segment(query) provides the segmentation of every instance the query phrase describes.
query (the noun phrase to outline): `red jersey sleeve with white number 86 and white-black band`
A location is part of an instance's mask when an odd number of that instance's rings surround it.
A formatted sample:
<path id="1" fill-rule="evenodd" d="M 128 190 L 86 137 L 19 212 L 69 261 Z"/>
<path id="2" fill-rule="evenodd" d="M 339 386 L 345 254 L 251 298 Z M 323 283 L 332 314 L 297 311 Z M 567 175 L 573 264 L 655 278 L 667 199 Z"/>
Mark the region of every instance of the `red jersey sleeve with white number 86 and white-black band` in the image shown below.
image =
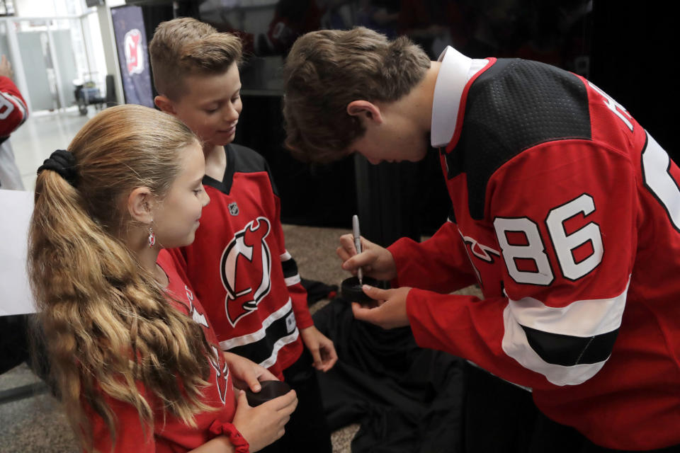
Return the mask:
<path id="1" fill-rule="evenodd" d="M 587 140 L 541 144 L 502 166 L 489 180 L 485 222 L 502 254 L 495 269 L 504 295 L 413 289 L 407 311 L 419 345 L 536 389 L 593 377 L 623 316 L 635 184 L 628 155 Z"/>

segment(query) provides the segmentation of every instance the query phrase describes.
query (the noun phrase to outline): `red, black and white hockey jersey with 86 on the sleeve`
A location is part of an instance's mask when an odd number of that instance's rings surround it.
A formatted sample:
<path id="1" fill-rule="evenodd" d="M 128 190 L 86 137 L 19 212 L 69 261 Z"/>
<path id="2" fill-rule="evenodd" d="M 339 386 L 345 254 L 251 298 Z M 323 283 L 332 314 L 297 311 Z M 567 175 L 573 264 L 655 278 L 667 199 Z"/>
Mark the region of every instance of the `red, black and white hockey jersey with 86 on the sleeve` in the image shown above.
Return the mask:
<path id="1" fill-rule="evenodd" d="M 419 345 L 530 386 L 596 444 L 680 444 L 680 170 L 606 93 L 489 59 L 441 152 L 453 202 L 390 247 Z M 446 294 L 479 282 L 485 299 Z"/>

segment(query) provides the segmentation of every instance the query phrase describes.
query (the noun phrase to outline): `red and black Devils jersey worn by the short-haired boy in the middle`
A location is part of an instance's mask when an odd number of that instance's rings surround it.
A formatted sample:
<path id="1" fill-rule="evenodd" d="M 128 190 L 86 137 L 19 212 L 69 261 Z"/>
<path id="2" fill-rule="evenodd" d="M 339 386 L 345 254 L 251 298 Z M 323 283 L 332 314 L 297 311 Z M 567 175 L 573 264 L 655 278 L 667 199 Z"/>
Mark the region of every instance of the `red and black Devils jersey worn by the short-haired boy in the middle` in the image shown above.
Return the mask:
<path id="1" fill-rule="evenodd" d="M 312 326 L 307 292 L 285 250 L 280 202 L 266 161 L 225 147 L 222 181 L 203 180 L 210 204 L 191 246 L 172 251 L 215 326 L 223 350 L 247 357 L 279 379 L 302 353 L 298 328 Z"/>

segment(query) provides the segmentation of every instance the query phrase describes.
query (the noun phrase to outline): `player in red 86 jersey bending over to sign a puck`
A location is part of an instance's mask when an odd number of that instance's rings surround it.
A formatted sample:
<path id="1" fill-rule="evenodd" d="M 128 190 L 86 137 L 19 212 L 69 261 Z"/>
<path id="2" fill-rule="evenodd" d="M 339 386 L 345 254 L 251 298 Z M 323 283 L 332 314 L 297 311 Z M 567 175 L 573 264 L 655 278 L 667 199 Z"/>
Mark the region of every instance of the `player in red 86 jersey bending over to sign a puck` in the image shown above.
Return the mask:
<path id="1" fill-rule="evenodd" d="M 431 239 L 356 255 L 341 238 L 345 269 L 392 280 L 357 319 L 531 387 L 580 432 L 572 451 L 677 451 L 680 171 L 625 108 L 547 64 L 451 47 L 431 62 L 356 28 L 295 42 L 284 109 L 302 159 L 440 149 L 453 210 Z M 484 299 L 450 294 L 474 282 Z"/>

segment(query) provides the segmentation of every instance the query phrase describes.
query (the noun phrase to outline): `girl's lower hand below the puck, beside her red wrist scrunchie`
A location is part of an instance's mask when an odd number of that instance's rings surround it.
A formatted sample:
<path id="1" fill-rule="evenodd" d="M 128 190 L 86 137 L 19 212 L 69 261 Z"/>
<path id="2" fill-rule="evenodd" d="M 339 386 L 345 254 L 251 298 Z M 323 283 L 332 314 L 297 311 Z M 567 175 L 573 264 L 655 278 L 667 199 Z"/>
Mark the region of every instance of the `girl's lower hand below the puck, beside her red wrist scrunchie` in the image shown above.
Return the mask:
<path id="1" fill-rule="evenodd" d="M 285 424 L 297 407 L 295 390 L 266 403 L 251 408 L 246 392 L 239 390 L 236 414 L 232 422 L 250 445 L 251 452 L 257 452 L 280 439 L 285 432 Z"/>

